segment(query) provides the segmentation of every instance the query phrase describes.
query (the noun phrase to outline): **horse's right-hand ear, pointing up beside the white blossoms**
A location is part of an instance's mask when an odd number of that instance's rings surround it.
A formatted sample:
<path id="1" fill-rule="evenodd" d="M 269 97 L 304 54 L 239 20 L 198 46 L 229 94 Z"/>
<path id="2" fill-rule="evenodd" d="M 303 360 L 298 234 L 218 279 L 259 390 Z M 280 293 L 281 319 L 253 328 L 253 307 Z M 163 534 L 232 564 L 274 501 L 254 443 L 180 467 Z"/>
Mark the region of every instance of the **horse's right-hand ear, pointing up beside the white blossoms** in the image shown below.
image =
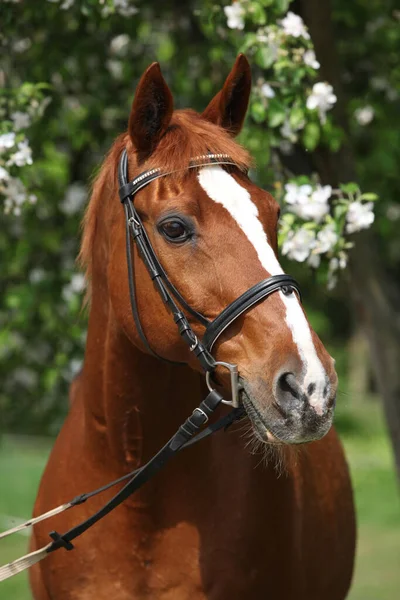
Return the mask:
<path id="1" fill-rule="evenodd" d="M 202 117 L 237 135 L 246 116 L 250 90 L 249 61 L 244 54 L 239 54 L 222 90 L 211 100 Z"/>

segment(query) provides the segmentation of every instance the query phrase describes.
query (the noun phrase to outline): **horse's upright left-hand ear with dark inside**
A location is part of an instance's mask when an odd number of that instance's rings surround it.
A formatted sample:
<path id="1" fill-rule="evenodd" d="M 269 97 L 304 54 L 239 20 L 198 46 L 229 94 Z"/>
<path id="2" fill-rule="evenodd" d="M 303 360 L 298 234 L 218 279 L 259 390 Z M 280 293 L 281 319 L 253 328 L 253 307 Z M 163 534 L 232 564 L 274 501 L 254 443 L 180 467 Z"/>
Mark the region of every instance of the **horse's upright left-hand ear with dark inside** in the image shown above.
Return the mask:
<path id="1" fill-rule="evenodd" d="M 128 131 L 139 161 L 150 156 L 165 133 L 174 109 L 170 89 L 160 65 L 153 63 L 143 73 L 136 88 Z"/>

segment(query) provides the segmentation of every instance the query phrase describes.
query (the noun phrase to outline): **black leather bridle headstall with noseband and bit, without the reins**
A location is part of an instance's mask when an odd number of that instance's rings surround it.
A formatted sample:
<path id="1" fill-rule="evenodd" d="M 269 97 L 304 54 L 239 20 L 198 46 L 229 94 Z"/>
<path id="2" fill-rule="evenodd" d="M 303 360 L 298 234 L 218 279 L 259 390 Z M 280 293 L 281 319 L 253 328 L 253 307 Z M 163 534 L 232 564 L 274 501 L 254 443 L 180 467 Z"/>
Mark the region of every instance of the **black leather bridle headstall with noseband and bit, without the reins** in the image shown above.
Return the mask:
<path id="1" fill-rule="evenodd" d="M 196 169 L 210 165 L 230 165 L 238 168 L 238 165 L 227 154 L 205 154 L 198 156 L 190 162 L 188 169 Z M 229 370 L 231 377 L 232 400 L 223 400 L 225 404 L 235 407 L 239 405 L 239 379 L 238 367 L 231 363 L 216 361 L 211 355 L 211 350 L 220 337 L 220 335 L 242 314 L 252 308 L 255 304 L 261 302 L 276 291 L 281 291 L 285 295 L 290 295 L 296 290 L 301 298 L 300 288 L 296 280 L 290 275 L 272 275 L 259 283 L 256 283 L 241 296 L 229 304 L 220 314 L 210 321 L 204 315 L 194 310 L 183 298 L 179 290 L 173 285 L 160 263 L 153 246 L 149 240 L 147 232 L 139 217 L 134 205 L 135 195 L 144 187 L 149 185 L 155 179 L 166 177 L 171 173 L 166 173 L 160 168 L 144 171 L 132 181 L 129 181 L 128 175 L 128 155 L 123 151 L 118 164 L 119 196 L 125 210 L 126 223 L 126 256 L 128 263 L 129 294 L 131 301 L 132 314 L 136 329 L 146 350 L 156 358 L 166 360 L 159 356 L 150 346 L 140 321 L 137 307 L 135 277 L 134 277 L 134 259 L 131 251 L 130 239 L 137 246 L 147 271 L 154 285 L 160 294 L 162 300 L 171 311 L 174 321 L 178 327 L 179 333 L 189 346 L 191 352 L 199 360 L 204 372 L 206 373 L 207 385 L 212 391 L 211 375 L 217 366 Z M 186 310 L 194 319 L 205 327 L 205 332 L 201 340 L 194 333 L 188 318 L 181 310 L 180 306 Z M 170 361 L 168 361 L 170 362 Z"/>

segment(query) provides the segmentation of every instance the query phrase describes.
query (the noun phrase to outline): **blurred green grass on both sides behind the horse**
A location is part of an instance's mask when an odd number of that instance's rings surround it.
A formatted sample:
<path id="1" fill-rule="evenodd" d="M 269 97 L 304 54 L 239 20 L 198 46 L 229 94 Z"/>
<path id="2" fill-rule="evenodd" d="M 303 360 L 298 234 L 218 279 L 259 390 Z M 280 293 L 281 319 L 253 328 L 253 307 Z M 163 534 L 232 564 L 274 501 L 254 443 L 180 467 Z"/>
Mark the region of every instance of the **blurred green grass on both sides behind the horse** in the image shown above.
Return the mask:
<path id="1" fill-rule="evenodd" d="M 380 406 L 365 402 L 356 409 L 342 409 L 338 424 L 352 472 L 359 531 L 354 583 L 347 600 L 398 600 L 400 504 Z M 51 442 L 36 438 L 2 438 L 0 529 L 11 526 L 1 522 L 2 515 L 30 516 L 50 447 Z M 17 534 L 0 542 L 0 565 L 24 554 L 27 539 Z M 0 583 L 0 598 L 30 600 L 26 574 Z"/>

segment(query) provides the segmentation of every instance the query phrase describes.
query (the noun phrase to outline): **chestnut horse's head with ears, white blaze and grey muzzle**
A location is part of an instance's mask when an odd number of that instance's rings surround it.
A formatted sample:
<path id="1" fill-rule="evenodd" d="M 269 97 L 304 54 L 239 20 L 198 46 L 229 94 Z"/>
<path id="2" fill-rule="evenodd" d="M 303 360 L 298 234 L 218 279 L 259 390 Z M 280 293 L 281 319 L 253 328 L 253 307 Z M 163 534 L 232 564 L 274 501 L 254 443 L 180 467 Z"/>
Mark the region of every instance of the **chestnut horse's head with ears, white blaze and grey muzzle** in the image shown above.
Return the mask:
<path id="1" fill-rule="evenodd" d="M 113 311 L 144 351 L 131 315 L 124 216 L 116 194 L 115 168 L 123 148 L 130 178 L 156 167 L 171 173 L 139 191 L 134 203 L 170 280 L 193 309 L 212 320 L 254 284 L 282 273 L 278 204 L 247 177 L 248 155 L 233 139 L 245 118 L 250 86 L 250 67 L 241 55 L 201 115 L 174 112 L 160 68 L 151 65 L 138 85 L 128 133 L 108 159 L 112 167 L 100 177 L 98 185 L 113 186 L 107 231 Z M 237 167 L 188 169 L 191 159 L 207 153 L 229 155 Z M 164 358 L 199 369 L 138 256 L 135 281 L 150 346 Z M 204 327 L 188 318 L 201 339 Z M 241 399 L 259 438 L 299 443 L 318 439 L 330 428 L 337 387 L 334 362 L 294 292 L 276 291 L 246 311 L 222 333 L 213 354 L 238 365 Z M 217 371 L 217 378 L 229 389 L 225 372 Z"/>

